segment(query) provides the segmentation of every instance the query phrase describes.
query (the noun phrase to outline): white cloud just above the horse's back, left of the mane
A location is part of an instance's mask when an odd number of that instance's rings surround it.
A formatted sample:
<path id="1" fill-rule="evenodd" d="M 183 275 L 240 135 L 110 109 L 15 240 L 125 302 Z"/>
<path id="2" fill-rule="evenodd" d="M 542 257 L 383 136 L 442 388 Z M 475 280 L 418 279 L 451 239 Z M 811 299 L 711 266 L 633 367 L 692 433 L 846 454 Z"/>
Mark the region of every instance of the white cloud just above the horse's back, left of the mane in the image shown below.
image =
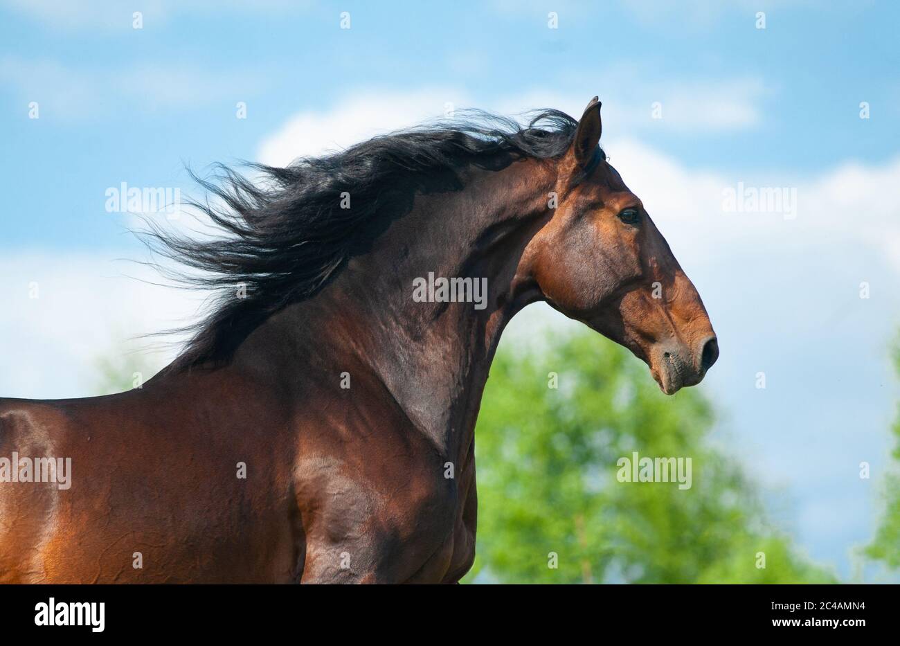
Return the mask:
<path id="1" fill-rule="evenodd" d="M 2 396 L 85 397 L 97 394 L 100 357 L 137 350 L 157 366 L 173 358 L 174 347 L 137 337 L 184 325 L 202 294 L 149 284 L 160 282 L 155 272 L 115 257 L 0 255 L 0 300 L 6 305 L 0 317 Z M 35 289 L 37 298 L 31 298 Z"/>

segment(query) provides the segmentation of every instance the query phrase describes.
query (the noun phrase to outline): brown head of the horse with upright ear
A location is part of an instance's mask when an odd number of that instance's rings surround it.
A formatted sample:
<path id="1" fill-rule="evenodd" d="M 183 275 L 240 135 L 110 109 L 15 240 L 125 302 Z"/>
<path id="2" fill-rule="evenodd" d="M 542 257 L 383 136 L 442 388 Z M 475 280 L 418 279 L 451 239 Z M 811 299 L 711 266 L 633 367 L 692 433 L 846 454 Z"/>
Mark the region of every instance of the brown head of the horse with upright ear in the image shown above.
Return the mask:
<path id="1" fill-rule="evenodd" d="M 671 395 L 716 363 L 716 334 L 643 202 L 607 163 L 600 132 L 595 97 L 558 162 L 556 208 L 527 248 L 528 271 L 554 309 L 625 345 Z"/>

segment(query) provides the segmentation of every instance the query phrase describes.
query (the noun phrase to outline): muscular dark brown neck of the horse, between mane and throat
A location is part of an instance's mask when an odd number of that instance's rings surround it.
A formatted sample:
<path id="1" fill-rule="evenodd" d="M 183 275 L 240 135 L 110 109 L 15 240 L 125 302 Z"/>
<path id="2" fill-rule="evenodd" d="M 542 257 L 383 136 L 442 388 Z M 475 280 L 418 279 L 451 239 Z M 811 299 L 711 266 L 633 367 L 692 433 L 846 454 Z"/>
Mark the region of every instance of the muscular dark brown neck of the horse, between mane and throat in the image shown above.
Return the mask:
<path id="1" fill-rule="evenodd" d="M 304 330 L 305 354 L 344 357 L 334 364 L 335 383 L 345 364 L 374 372 L 439 451 L 463 459 L 500 333 L 540 299 L 519 270 L 528 241 L 549 217 L 552 173 L 519 161 L 466 173 L 461 191 L 417 196 L 371 252 L 352 259 L 316 298 L 293 306 L 288 328 Z M 414 284 L 428 283 L 429 274 L 436 282 L 472 278 L 473 287 L 486 280 L 483 309 L 414 300 Z"/>

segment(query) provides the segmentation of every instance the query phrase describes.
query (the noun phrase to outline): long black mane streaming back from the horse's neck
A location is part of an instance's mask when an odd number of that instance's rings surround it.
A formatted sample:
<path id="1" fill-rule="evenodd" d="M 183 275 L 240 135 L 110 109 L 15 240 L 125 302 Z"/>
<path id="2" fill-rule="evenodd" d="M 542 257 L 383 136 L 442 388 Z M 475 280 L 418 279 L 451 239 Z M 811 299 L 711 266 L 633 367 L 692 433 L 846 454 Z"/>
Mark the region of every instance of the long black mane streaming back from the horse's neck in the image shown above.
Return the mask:
<path id="1" fill-rule="evenodd" d="M 556 110 L 537 112 L 527 126 L 485 112 L 467 116 L 449 127 L 403 130 L 285 168 L 248 164 L 261 181 L 221 165 L 211 179 L 192 172 L 222 206 L 190 203 L 222 235 L 196 240 L 153 223 L 141 234 L 151 250 L 201 271 L 174 274 L 179 281 L 216 294 L 210 313 L 186 328 L 193 336 L 173 367 L 227 361 L 265 319 L 319 292 L 349 257 L 371 245 L 375 220 L 409 211 L 412 196 L 428 190 L 436 176 L 459 184 L 457 171 L 465 166 L 558 157 L 578 126 Z M 341 208 L 342 193 L 351 208 Z M 242 284 L 246 298 L 237 298 Z"/>

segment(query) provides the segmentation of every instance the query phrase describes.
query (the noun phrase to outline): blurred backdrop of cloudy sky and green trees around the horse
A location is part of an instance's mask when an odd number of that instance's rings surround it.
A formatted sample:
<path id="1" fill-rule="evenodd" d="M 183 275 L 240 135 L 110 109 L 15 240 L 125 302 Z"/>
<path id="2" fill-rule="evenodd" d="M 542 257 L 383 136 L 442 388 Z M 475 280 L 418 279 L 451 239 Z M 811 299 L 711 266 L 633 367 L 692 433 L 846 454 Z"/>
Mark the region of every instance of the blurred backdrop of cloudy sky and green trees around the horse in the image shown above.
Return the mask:
<path id="1" fill-rule="evenodd" d="M 192 226 L 185 166 L 599 94 L 609 161 L 721 357 L 666 398 L 606 339 L 519 314 L 476 433 L 466 580 L 896 582 L 898 22 L 865 0 L 0 0 L 0 395 L 124 390 L 176 354 L 141 335 L 205 295 L 129 231 Z M 693 486 L 618 482 L 633 451 L 690 456 Z"/>

